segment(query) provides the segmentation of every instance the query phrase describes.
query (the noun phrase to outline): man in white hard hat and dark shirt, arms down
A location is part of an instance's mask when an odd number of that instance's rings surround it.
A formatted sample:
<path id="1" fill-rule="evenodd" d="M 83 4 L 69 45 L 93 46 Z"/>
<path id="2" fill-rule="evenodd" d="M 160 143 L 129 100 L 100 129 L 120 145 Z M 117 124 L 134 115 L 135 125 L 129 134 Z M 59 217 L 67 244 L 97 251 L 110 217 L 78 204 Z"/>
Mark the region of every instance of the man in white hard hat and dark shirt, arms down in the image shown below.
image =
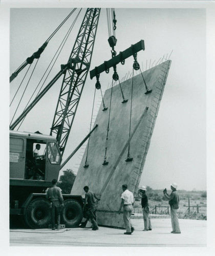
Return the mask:
<path id="1" fill-rule="evenodd" d="M 148 206 L 148 197 L 145 193 L 146 191 L 145 186 L 141 186 L 139 189 L 139 194 L 141 196 L 141 205 L 143 210 L 143 221 L 144 221 L 144 229 L 143 231 L 152 230 L 151 220 L 149 216 L 149 206 Z"/>

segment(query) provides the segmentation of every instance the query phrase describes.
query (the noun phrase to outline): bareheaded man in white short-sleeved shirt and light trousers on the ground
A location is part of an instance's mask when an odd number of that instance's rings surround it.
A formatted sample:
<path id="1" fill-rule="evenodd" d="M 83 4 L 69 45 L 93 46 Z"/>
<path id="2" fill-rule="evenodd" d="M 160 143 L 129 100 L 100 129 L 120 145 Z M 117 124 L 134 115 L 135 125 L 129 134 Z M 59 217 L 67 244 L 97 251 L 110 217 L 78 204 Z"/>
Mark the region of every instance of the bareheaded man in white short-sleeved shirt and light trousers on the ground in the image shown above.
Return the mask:
<path id="1" fill-rule="evenodd" d="M 124 232 L 124 234 L 132 234 L 132 232 L 134 231 L 134 227 L 131 224 L 130 217 L 133 211 L 134 195 L 131 191 L 127 189 L 126 184 L 122 185 L 122 190 L 123 190 L 123 193 L 121 195 L 122 201 L 119 207 L 119 214 L 123 206 L 123 220 L 126 227 L 126 232 Z"/>

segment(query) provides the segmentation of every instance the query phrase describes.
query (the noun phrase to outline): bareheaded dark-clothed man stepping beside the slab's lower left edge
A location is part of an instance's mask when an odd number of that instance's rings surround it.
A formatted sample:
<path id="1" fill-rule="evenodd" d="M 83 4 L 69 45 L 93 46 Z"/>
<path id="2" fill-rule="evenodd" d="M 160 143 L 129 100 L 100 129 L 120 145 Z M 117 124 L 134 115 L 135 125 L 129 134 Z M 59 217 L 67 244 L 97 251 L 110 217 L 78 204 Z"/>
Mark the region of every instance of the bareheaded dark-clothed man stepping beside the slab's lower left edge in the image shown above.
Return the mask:
<path id="1" fill-rule="evenodd" d="M 89 190 L 88 186 L 84 186 L 83 190 L 85 191 L 85 202 L 83 205 L 83 210 L 88 204 L 88 211 L 90 213 L 90 219 L 93 224 L 92 230 L 98 230 L 98 224 L 97 224 L 97 218 L 96 218 L 96 210 L 97 210 L 97 205 L 96 205 L 96 200 L 95 198 L 99 201 L 100 199 L 96 197 L 95 193 L 93 191 Z"/>

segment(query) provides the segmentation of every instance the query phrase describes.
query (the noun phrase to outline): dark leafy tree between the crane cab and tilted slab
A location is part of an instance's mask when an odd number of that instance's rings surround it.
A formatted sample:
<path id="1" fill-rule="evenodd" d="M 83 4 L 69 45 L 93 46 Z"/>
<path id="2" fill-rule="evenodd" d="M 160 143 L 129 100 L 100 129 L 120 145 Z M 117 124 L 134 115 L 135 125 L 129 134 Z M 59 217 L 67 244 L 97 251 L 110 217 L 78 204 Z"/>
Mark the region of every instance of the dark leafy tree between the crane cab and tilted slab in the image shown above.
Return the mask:
<path id="1" fill-rule="evenodd" d="M 70 194 L 72 186 L 74 184 L 76 175 L 73 173 L 72 169 L 63 170 L 63 175 L 57 183 L 57 186 L 62 189 L 62 194 Z"/>

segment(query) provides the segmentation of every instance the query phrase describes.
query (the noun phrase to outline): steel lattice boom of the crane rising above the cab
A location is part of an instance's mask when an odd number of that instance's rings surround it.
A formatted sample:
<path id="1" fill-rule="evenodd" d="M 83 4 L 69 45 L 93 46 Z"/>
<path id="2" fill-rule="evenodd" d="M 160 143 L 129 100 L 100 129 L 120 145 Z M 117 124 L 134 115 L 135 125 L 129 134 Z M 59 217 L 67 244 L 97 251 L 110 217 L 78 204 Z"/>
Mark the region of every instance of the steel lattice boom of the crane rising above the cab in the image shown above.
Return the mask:
<path id="1" fill-rule="evenodd" d="M 50 132 L 50 135 L 56 135 L 61 155 L 90 69 L 99 15 L 100 8 L 87 9 L 69 57 L 70 69 L 66 70 L 63 77 Z"/>

